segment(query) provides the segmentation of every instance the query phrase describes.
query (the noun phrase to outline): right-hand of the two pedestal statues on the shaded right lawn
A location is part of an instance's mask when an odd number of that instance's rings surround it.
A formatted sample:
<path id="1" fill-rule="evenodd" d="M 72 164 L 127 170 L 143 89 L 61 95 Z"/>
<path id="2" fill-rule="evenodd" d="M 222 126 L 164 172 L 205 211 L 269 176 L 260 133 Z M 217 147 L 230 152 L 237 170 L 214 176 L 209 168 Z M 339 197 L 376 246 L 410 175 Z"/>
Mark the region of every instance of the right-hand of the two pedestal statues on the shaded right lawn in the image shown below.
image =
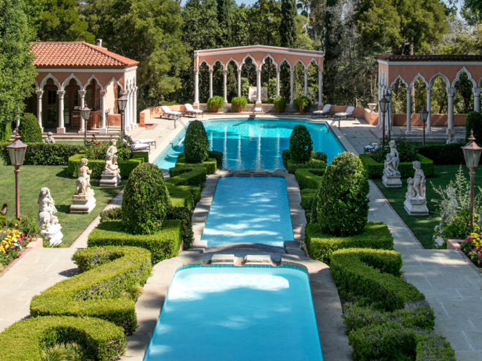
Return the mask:
<path id="1" fill-rule="evenodd" d="M 426 179 L 419 161 L 412 162 L 415 175 L 407 179 L 404 207 L 409 215 L 428 215 Z"/>

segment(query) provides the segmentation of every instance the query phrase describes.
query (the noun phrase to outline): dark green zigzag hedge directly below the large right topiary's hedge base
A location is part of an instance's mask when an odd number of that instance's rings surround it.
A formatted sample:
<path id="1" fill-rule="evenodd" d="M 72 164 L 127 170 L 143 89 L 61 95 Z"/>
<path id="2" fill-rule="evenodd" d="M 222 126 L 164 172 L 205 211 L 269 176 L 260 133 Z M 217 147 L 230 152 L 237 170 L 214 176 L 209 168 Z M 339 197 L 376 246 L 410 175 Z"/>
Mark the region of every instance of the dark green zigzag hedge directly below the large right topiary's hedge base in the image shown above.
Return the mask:
<path id="1" fill-rule="evenodd" d="M 330 268 L 337 287 L 394 311 L 425 299 L 417 287 L 400 278 L 403 264 L 395 251 L 347 248 L 333 252 Z"/>

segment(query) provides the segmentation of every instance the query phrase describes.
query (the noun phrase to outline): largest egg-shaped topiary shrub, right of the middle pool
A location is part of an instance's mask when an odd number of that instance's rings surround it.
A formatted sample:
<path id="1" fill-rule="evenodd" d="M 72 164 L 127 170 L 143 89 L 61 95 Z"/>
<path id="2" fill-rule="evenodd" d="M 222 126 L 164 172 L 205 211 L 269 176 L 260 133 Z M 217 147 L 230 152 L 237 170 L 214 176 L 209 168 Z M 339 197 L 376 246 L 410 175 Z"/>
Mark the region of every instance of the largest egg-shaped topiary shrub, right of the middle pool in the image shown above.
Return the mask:
<path id="1" fill-rule="evenodd" d="M 326 168 L 317 193 L 317 222 L 326 234 L 361 234 L 368 219 L 368 178 L 362 161 L 341 153 Z"/>

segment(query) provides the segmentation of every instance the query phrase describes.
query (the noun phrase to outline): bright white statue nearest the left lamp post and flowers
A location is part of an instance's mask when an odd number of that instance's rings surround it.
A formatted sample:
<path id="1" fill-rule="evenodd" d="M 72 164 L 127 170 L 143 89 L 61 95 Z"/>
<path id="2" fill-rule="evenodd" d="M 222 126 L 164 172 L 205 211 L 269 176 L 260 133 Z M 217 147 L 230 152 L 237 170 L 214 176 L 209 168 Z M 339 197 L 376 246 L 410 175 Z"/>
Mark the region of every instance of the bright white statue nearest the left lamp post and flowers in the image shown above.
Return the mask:
<path id="1" fill-rule="evenodd" d="M 57 209 L 49 188 L 41 188 L 37 203 L 39 204 L 39 225 L 42 237 L 48 239 L 50 245 L 58 245 L 63 238 L 62 227 L 55 216 Z"/>

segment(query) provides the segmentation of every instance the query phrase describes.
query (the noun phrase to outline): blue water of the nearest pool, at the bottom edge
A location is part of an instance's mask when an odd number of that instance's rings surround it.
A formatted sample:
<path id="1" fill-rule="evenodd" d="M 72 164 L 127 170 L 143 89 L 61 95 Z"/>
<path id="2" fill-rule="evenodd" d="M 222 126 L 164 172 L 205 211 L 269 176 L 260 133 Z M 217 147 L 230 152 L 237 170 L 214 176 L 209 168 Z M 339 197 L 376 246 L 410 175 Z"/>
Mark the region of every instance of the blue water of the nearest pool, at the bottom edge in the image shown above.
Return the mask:
<path id="1" fill-rule="evenodd" d="M 174 275 L 144 361 L 322 361 L 306 272 L 188 266 Z"/>

